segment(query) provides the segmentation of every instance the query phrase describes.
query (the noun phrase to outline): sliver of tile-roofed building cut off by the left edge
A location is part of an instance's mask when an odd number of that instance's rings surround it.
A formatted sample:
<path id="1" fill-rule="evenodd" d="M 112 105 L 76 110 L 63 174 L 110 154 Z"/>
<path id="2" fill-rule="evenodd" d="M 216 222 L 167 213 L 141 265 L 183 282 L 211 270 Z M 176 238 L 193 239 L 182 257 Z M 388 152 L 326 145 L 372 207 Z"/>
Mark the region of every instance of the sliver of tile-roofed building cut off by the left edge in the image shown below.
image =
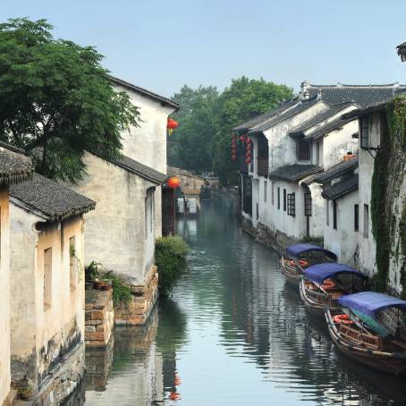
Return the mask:
<path id="1" fill-rule="evenodd" d="M 10 312 L 12 309 L 10 300 L 14 292 L 11 289 L 10 274 L 9 187 L 16 182 L 30 179 L 32 172 L 30 158 L 22 156 L 18 153 L 18 149 L 5 149 L 4 143 L 0 142 L 0 275 L 3 286 L 0 305 L 0 404 L 5 405 L 10 404 L 13 398 L 10 368 Z"/>

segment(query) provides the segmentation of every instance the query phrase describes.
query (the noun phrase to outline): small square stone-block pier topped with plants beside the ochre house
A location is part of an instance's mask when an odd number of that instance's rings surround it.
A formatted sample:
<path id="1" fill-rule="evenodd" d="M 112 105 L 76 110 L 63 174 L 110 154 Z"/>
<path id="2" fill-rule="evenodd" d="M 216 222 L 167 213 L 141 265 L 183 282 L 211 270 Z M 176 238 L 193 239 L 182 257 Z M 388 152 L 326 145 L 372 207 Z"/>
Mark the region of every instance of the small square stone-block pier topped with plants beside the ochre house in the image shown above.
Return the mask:
<path id="1" fill-rule="evenodd" d="M 113 291 L 86 290 L 85 343 L 106 347 L 114 329 Z"/>

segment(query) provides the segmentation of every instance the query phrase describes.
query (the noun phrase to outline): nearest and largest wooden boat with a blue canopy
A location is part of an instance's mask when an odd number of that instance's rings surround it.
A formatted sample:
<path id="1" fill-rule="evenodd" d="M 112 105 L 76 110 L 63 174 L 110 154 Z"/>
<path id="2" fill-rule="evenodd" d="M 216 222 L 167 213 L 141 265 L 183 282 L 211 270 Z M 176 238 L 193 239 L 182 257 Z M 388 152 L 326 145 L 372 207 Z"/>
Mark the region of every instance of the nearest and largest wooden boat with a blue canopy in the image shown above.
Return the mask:
<path id="1" fill-rule="evenodd" d="M 386 373 L 406 372 L 406 300 L 359 292 L 338 300 L 343 309 L 326 308 L 328 331 L 343 354 Z M 403 311 L 402 311 L 403 310 Z"/>

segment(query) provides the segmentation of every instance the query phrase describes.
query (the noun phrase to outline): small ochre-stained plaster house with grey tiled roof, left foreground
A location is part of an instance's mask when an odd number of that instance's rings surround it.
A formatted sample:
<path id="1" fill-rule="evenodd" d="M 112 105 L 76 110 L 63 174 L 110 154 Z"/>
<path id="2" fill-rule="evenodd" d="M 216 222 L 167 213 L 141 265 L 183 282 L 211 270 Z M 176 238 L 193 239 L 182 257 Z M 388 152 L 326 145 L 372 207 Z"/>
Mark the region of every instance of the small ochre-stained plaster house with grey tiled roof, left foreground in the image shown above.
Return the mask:
<path id="1" fill-rule="evenodd" d="M 84 375 L 84 222 L 95 202 L 39 174 L 10 187 L 11 373 L 35 404 Z"/>

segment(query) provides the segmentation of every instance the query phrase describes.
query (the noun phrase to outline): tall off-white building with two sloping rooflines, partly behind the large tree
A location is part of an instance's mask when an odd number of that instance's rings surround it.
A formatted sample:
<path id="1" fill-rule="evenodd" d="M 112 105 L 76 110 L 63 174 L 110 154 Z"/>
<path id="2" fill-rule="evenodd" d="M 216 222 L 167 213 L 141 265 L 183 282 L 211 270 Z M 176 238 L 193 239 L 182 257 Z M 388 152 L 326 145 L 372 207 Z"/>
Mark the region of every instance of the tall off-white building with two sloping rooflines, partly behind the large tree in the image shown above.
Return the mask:
<path id="1" fill-rule="evenodd" d="M 166 123 L 178 106 L 124 80 L 111 80 L 114 89 L 127 92 L 139 107 L 140 127 L 123 131 L 120 159 L 107 162 L 86 153 L 88 174 L 72 187 L 97 202 L 96 210 L 85 216 L 85 263 L 95 260 L 131 285 L 137 309 L 116 312 L 116 320 L 135 325 L 145 322 L 157 297 L 154 251 L 162 234 Z"/>

